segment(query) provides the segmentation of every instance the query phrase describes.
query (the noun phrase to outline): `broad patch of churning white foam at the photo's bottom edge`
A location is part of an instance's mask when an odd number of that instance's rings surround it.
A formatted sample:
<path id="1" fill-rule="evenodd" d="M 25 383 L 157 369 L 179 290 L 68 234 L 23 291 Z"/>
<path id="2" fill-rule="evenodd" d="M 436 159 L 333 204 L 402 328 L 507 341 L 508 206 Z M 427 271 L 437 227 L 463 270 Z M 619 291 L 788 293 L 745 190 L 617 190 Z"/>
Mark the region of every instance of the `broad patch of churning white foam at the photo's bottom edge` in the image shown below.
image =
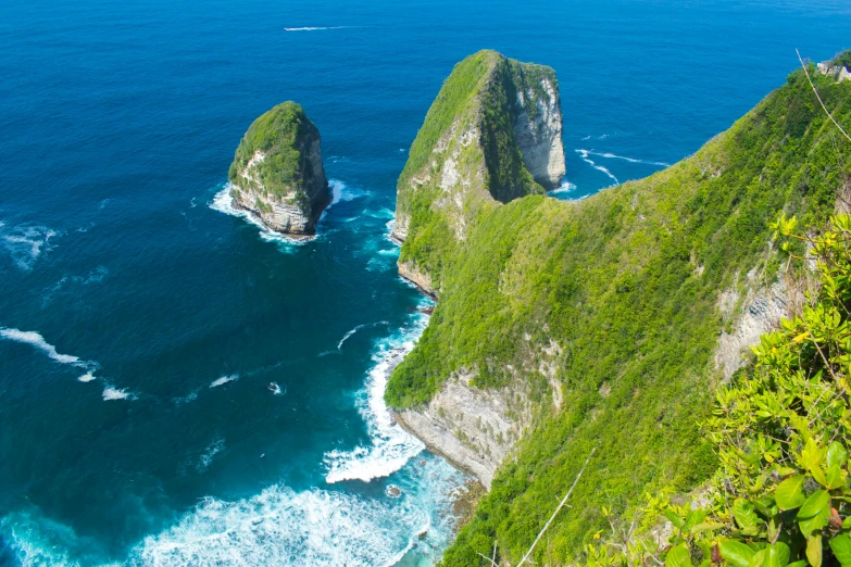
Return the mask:
<path id="1" fill-rule="evenodd" d="M 430 525 L 426 511 L 405 502 L 274 486 L 238 502 L 204 499 L 146 538 L 129 564 L 390 566 Z"/>

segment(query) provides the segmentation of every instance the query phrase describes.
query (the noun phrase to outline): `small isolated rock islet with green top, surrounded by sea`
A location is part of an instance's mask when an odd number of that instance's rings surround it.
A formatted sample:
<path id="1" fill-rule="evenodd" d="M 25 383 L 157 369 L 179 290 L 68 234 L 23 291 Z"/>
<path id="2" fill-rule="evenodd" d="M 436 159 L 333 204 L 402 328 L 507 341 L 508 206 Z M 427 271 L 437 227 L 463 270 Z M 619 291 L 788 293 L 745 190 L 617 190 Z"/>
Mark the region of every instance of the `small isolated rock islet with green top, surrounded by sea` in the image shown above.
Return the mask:
<path id="1" fill-rule="evenodd" d="M 295 238 L 315 232 L 331 200 L 320 130 L 292 101 L 278 104 L 251 124 L 227 177 L 234 206 Z"/>

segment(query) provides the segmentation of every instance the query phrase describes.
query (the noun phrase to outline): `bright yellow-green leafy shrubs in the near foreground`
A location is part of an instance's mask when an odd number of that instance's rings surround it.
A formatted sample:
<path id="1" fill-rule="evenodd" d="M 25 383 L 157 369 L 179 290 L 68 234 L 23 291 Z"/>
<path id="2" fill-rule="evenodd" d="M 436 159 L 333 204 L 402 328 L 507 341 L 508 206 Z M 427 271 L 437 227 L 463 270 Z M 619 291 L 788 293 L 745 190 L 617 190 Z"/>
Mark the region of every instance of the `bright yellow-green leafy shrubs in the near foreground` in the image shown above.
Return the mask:
<path id="1" fill-rule="evenodd" d="M 590 564 L 851 565 L 851 217 L 831 225 L 815 238 L 798 234 L 794 219 L 775 225 L 811 248 L 819 288 L 812 305 L 764 335 L 755 362 L 718 390 L 702 426 L 721 461 L 709 504 L 659 502 L 644 513 L 671 520 L 663 549 L 647 538 L 591 545 Z"/>

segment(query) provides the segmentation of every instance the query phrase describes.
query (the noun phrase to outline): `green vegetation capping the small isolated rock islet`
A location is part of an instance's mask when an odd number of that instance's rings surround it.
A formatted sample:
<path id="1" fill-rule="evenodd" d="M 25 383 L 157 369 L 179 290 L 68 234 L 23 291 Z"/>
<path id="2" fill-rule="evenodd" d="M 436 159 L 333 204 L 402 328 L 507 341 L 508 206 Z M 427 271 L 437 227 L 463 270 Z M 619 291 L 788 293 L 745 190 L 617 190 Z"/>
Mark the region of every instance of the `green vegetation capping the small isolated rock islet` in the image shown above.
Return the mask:
<path id="1" fill-rule="evenodd" d="M 318 133 L 301 105 L 288 101 L 262 114 L 248 128 L 236 150 L 227 177 L 231 184 L 251 191 L 260 191 L 253 179 L 242 177 L 255 152 L 265 158 L 251 172 L 263 185 L 264 194 L 283 197 L 300 190 L 304 140 Z"/>

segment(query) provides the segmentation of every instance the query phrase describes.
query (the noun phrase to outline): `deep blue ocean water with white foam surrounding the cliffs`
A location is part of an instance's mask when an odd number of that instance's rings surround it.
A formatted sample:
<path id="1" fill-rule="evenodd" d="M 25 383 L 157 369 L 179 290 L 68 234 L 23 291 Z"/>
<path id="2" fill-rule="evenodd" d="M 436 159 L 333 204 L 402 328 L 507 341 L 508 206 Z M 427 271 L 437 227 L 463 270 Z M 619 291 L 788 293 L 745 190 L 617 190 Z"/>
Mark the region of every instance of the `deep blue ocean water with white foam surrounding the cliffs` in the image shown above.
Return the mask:
<path id="1" fill-rule="evenodd" d="M 849 24 L 847 0 L 3 2 L 0 565 L 430 564 L 467 477 L 381 403 L 427 323 L 387 235 L 452 65 L 556 70 L 555 197 L 579 199 L 692 153 Z M 289 99 L 336 191 L 303 244 L 222 193 Z"/>

